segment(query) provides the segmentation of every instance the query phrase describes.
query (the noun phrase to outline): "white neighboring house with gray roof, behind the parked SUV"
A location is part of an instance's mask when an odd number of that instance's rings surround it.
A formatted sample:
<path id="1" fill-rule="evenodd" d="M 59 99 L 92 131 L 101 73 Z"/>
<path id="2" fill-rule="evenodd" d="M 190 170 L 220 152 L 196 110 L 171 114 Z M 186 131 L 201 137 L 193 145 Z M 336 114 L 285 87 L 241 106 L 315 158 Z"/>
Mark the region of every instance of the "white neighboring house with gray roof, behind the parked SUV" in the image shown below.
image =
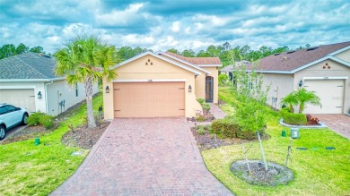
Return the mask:
<path id="1" fill-rule="evenodd" d="M 53 56 L 36 53 L 0 60 L 0 103 L 58 115 L 85 99 L 83 84 L 68 86 L 65 78 L 55 75 L 55 64 Z"/>

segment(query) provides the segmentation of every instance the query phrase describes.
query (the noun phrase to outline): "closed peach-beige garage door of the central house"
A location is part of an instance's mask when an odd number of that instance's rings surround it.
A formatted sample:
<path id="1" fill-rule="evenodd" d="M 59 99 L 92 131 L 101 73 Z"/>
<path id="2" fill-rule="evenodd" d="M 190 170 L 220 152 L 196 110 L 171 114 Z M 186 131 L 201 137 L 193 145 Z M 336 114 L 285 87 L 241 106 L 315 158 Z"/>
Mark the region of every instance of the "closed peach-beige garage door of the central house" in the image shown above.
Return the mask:
<path id="1" fill-rule="evenodd" d="M 185 115 L 184 82 L 114 83 L 114 117 Z"/>

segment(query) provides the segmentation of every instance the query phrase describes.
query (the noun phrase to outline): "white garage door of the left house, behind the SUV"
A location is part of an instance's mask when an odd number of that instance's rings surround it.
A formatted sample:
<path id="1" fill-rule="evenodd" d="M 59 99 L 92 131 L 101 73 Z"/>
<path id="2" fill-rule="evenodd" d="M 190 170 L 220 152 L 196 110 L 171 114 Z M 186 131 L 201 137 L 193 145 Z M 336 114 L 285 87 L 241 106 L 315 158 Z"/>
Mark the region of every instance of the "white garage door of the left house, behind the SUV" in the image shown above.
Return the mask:
<path id="1" fill-rule="evenodd" d="M 36 112 L 34 89 L 0 89 L 0 103 L 25 107 L 30 113 Z"/>

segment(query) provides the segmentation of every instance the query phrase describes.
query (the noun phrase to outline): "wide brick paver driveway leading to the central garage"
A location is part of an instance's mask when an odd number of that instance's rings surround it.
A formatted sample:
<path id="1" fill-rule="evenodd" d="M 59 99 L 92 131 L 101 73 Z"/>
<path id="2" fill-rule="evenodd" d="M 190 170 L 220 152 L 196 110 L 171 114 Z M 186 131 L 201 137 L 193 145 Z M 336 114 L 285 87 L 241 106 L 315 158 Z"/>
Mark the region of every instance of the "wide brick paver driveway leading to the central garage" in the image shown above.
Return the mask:
<path id="1" fill-rule="evenodd" d="M 210 174 L 184 118 L 114 119 L 52 195 L 232 195 Z"/>

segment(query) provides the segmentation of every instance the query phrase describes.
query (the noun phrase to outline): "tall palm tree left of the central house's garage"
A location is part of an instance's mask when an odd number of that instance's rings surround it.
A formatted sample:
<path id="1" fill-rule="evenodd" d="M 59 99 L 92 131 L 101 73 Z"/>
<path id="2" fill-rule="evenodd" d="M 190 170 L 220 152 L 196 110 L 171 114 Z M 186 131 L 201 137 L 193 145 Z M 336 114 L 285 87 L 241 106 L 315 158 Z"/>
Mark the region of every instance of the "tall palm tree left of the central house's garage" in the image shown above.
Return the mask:
<path id="1" fill-rule="evenodd" d="M 92 110 L 92 86 L 103 77 L 110 81 L 117 73 L 109 69 L 117 64 L 116 48 L 101 38 L 76 36 L 54 54 L 57 59 L 55 72 L 66 76 L 66 82 L 81 82 L 85 88 L 88 127 L 96 127 Z"/>

